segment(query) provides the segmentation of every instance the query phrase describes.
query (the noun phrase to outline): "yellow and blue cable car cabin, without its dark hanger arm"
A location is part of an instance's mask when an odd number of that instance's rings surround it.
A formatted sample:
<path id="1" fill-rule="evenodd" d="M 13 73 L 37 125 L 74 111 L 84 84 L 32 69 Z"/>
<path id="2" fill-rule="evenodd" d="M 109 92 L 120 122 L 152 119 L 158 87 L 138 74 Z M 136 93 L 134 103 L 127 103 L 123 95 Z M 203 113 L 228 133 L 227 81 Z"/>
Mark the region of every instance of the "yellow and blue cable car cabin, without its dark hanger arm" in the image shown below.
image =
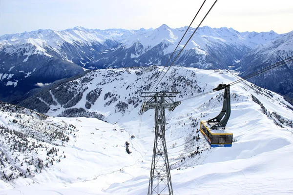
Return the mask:
<path id="1" fill-rule="evenodd" d="M 207 120 L 200 121 L 200 132 L 209 142 L 211 147 L 230 147 L 232 146 L 233 134 L 227 128 L 211 129 Z"/>

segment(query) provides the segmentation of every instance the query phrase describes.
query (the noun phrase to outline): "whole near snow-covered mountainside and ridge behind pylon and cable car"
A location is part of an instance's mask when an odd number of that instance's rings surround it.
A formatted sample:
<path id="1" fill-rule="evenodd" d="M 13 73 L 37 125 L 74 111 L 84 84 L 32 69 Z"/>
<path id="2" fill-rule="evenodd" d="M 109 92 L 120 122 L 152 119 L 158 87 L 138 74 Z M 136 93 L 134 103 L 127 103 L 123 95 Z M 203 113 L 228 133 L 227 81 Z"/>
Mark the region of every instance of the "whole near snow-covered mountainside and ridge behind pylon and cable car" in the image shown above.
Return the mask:
<path id="1" fill-rule="evenodd" d="M 154 111 L 140 112 L 140 96 L 162 69 L 84 72 L 21 101 L 35 111 L 0 102 L 3 193 L 146 194 Z M 157 90 L 179 91 L 180 101 L 238 79 L 229 71 L 172 67 Z M 174 194 L 292 192 L 293 105 L 248 81 L 231 86 L 230 94 L 230 148 L 210 148 L 196 131 L 201 120 L 221 111 L 223 91 L 182 101 L 166 113 Z"/>

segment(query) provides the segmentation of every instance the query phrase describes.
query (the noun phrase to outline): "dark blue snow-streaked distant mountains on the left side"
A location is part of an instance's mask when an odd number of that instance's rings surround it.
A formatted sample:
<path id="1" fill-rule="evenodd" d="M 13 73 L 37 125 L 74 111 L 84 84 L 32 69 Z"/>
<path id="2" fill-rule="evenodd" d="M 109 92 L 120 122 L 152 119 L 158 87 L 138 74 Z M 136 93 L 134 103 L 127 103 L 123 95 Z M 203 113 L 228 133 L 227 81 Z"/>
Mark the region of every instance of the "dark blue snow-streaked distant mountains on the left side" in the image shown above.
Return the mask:
<path id="1" fill-rule="evenodd" d="M 0 99 L 13 101 L 27 91 L 84 72 L 98 52 L 119 43 L 131 31 L 38 30 L 0 37 Z"/>

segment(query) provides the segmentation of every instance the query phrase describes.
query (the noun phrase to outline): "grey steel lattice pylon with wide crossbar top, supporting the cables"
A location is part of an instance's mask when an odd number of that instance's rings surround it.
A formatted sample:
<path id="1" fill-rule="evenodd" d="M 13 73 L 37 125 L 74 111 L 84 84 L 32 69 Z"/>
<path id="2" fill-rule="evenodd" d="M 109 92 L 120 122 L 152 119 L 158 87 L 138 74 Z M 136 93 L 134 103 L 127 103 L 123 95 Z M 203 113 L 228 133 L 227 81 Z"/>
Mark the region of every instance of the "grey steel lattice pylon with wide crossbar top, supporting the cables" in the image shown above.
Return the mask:
<path id="1" fill-rule="evenodd" d="M 176 102 L 178 92 L 144 92 L 142 111 L 155 109 L 155 140 L 147 195 L 173 195 L 167 144 L 165 138 L 165 109 L 173 111 L 181 102 Z M 149 98 L 149 99 L 147 99 Z"/>

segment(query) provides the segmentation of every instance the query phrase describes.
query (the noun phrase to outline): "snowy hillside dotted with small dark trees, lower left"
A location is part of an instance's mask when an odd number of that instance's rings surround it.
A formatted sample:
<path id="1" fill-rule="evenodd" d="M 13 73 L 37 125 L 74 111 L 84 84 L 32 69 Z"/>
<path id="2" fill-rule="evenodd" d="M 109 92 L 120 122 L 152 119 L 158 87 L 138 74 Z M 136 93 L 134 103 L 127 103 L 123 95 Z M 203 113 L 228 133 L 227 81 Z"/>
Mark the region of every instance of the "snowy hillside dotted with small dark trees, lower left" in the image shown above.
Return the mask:
<path id="1" fill-rule="evenodd" d="M 1 179 L 33 183 L 32 177 L 66 157 L 57 146 L 68 145 L 77 131 L 61 119 L 0 101 Z"/>

